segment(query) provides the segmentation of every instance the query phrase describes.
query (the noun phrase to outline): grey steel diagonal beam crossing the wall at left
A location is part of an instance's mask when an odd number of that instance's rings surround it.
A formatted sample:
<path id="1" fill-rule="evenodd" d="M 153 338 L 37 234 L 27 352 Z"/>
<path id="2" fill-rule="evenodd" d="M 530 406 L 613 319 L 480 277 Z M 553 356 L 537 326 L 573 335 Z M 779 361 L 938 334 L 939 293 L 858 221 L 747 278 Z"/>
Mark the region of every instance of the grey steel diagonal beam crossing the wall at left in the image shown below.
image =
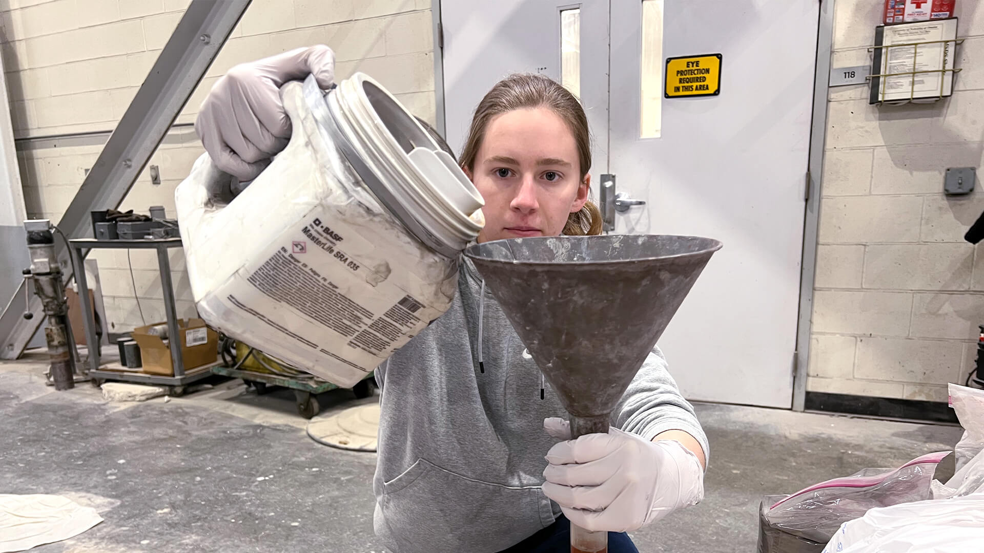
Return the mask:
<path id="1" fill-rule="evenodd" d="M 115 209 L 126 198 L 249 4 L 250 0 L 191 3 L 59 221 L 70 238 L 92 236 L 90 212 Z M 72 276 L 69 251 L 60 240 L 56 245 L 67 281 Z M 24 319 L 24 287 L 22 282 L 0 316 L 0 359 L 19 357 L 44 319 L 41 302 L 33 294 L 28 310 L 34 318 Z"/>

